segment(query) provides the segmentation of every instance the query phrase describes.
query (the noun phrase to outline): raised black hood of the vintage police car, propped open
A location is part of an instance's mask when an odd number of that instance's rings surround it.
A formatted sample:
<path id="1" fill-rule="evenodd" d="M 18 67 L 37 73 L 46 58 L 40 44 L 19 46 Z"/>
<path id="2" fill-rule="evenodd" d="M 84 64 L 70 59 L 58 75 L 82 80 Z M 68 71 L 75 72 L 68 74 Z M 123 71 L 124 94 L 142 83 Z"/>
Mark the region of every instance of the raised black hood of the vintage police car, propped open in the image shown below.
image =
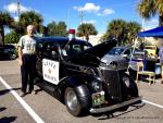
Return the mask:
<path id="1" fill-rule="evenodd" d="M 117 44 L 116 40 L 109 40 L 91 47 L 84 52 L 70 57 L 68 60 L 73 63 L 82 65 L 98 66 L 101 63 L 101 58 L 104 57 Z"/>

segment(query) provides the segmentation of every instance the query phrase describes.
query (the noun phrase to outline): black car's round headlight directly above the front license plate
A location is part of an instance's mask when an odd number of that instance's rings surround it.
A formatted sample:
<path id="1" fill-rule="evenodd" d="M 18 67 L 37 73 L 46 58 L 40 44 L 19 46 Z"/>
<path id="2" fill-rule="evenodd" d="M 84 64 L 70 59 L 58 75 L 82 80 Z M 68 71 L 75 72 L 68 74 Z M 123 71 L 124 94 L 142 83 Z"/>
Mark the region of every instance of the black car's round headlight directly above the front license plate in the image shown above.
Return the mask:
<path id="1" fill-rule="evenodd" d="M 102 83 L 98 81 L 92 81 L 90 83 L 91 89 L 93 93 L 98 93 L 102 90 Z"/>

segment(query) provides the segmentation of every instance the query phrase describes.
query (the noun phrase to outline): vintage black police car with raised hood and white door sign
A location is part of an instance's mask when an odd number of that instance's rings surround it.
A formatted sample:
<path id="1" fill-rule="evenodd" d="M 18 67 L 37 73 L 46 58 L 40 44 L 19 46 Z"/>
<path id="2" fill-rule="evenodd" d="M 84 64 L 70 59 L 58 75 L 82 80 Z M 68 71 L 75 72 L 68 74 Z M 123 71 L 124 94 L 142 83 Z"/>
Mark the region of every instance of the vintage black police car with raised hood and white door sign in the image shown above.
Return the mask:
<path id="1" fill-rule="evenodd" d="M 63 102 L 73 115 L 126 110 L 141 101 L 136 83 L 123 71 L 111 70 L 101 58 L 109 40 L 92 47 L 78 39 L 42 37 L 37 44 L 37 77 L 41 88 Z"/>

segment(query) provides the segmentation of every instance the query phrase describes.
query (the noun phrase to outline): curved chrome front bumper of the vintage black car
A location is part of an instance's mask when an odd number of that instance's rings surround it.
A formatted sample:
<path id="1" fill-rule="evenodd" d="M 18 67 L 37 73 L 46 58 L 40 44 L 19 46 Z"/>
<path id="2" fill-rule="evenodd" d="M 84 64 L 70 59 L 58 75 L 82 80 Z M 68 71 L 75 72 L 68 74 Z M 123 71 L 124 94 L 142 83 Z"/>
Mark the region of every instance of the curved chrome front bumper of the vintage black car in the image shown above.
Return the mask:
<path id="1" fill-rule="evenodd" d="M 102 112 L 112 111 L 114 109 L 118 109 L 118 108 L 122 108 L 124 106 L 133 104 L 133 103 L 135 103 L 137 101 L 140 101 L 141 99 L 142 99 L 142 97 L 137 97 L 137 98 L 130 99 L 128 101 L 124 101 L 124 102 L 116 103 L 116 104 L 109 106 L 109 107 L 91 108 L 90 109 L 90 113 L 102 113 Z"/>

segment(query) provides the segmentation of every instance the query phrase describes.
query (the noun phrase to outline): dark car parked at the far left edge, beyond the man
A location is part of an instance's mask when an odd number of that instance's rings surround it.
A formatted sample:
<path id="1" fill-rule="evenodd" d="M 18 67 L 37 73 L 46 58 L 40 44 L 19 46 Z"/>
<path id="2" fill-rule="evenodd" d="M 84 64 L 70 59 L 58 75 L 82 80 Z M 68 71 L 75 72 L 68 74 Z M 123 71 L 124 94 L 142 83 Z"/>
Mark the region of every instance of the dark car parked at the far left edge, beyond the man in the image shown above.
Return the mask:
<path id="1" fill-rule="evenodd" d="M 16 59 L 16 48 L 13 45 L 0 46 L 0 60 L 14 60 Z"/>

